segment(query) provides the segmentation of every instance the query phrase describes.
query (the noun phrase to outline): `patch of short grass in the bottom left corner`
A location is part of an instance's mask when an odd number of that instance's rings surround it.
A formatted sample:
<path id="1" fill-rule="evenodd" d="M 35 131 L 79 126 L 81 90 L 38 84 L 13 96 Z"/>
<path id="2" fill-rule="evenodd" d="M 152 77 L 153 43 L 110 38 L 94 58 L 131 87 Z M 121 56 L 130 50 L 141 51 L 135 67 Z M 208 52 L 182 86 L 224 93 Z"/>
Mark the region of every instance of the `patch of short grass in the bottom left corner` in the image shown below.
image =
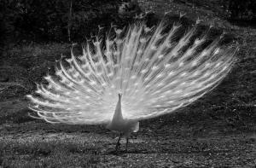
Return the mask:
<path id="1" fill-rule="evenodd" d="M 99 148 L 80 142 L 1 141 L 3 167 L 92 166 L 100 162 Z"/>

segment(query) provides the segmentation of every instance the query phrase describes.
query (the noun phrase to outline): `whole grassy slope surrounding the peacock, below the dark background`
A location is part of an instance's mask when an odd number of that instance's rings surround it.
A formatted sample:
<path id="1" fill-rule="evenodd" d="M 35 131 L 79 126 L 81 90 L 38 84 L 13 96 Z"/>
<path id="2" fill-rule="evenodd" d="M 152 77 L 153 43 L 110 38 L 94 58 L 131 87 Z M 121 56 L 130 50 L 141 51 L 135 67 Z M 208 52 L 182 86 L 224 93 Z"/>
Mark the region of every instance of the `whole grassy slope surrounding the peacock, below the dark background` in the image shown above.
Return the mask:
<path id="1" fill-rule="evenodd" d="M 161 3 L 160 3 L 161 2 Z M 164 2 L 164 3 L 162 3 Z M 187 13 L 230 31 L 241 44 L 236 67 L 224 82 L 178 113 L 143 121 L 129 152 L 113 154 L 113 133 L 101 126 L 49 125 L 27 117 L 24 95 L 53 67 L 67 44 L 35 44 L 9 49 L 0 67 L 0 165 L 3 167 L 241 166 L 256 164 L 256 30 L 231 26 L 216 1 L 143 1 L 157 14 Z M 197 8 L 198 7 L 198 8 Z"/>

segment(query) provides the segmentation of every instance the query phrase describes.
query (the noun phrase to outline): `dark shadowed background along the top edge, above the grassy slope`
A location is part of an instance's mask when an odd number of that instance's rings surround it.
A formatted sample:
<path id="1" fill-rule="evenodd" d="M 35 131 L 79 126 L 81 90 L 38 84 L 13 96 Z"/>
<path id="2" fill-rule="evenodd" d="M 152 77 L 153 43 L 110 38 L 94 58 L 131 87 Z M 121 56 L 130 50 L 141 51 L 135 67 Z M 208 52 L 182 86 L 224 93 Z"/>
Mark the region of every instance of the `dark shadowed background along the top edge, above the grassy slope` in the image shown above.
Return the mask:
<path id="1" fill-rule="evenodd" d="M 136 1 L 133 1 L 132 5 L 138 5 L 134 2 Z M 119 8 L 125 3 L 127 17 L 124 19 Z M 4 44 L 83 41 L 98 25 L 109 26 L 109 23 L 113 22 L 122 26 L 127 24 L 135 13 L 142 12 L 138 10 L 140 7 L 129 6 L 129 3 L 129 0 L 2 0 L 1 41 Z M 245 26 L 256 19 L 256 3 L 253 0 L 176 0 L 173 3 L 191 4 L 192 8 L 196 5 L 208 5 L 208 8 L 211 8 L 209 4 L 215 5 L 218 10 L 216 12 L 221 13 L 224 19 L 243 23 Z"/>

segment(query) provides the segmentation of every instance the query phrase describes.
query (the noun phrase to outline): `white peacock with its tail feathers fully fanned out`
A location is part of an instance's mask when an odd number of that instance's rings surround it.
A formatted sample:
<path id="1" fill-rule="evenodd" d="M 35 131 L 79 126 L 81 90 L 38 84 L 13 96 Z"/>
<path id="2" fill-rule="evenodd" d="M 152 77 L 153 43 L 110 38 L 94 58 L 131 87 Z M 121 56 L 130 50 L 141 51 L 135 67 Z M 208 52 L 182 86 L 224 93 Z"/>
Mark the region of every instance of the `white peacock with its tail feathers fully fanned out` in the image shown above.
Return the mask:
<path id="1" fill-rule="evenodd" d="M 126 147 L 139 122 L 186 107 L 215 88 L 236 62 L 237 47 L 221 45 L 223 35 L 209 42 L 209 30 L 198 35 L 180 23 L 145 22 L 120 29 L 111 26 L 96 36 L 82 55 L 61 59 L 48 84 L 28 95 L 29 108 L 51 124 L 105 125 L 119 132 Z M 110 33 L 112 32 L 112 33 Z"/>

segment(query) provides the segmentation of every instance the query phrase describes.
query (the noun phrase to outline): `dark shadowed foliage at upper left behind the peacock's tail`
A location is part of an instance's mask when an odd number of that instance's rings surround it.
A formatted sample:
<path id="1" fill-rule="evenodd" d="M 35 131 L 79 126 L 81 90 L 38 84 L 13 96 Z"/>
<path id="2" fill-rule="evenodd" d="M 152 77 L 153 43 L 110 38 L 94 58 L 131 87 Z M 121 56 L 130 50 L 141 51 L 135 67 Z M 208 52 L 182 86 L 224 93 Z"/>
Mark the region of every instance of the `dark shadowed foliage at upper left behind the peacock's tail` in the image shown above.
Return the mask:
<path id="1" fill-rule="evenodd" d="M 118 0 L 2 0 L 0 38 L 67 42 L 70 29 L 71 40 L 84 40 L 98 25 L 123 21 L 118 6 Z"/>

